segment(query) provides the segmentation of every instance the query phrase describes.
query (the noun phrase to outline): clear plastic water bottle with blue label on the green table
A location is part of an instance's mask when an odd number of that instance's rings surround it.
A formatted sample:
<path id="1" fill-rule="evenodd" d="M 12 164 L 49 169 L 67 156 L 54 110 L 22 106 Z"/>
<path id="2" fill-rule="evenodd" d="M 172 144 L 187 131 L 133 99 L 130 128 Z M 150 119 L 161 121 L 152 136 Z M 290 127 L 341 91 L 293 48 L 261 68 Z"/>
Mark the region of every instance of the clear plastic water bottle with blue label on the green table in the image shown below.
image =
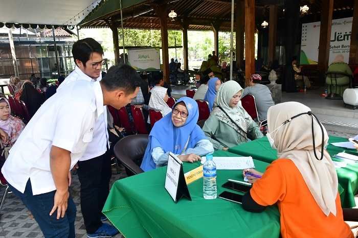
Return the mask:
<path id="1" fill-rule="evenodd" d="M 204 199 L 216 198 L 216 164 L 213 155 L 208 154 L 203 166 L 204 173 Z"/>

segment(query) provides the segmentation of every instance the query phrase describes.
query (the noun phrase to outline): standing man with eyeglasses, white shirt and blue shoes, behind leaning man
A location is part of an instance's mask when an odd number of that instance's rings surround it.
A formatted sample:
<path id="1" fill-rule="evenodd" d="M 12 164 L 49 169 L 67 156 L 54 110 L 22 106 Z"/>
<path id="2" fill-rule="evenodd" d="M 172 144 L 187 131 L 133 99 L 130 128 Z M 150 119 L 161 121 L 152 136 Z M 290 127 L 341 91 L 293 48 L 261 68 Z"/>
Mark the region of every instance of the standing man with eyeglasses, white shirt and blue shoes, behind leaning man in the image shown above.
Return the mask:
<path id="1" fill-rule="evenodd" d="M 102 79 L 104 59 L 100 43 L 93 38 L 78 40 L 72 46 L 72 55 L 76 63 L 75 70 L 59 85 L 57 91 L 66 90 L 79 80 L 91 83 Z M 107 220 L 102 214 L 102 208 L 109 193 L 111 178 L 108 138 L 107 109 L 104 106 L 94 127 L 93 140 L 75 166 L 81 183 L 81 212 L 87 237 L 111 237 L 118 233 L 114 226 L 102 223 Z"/>

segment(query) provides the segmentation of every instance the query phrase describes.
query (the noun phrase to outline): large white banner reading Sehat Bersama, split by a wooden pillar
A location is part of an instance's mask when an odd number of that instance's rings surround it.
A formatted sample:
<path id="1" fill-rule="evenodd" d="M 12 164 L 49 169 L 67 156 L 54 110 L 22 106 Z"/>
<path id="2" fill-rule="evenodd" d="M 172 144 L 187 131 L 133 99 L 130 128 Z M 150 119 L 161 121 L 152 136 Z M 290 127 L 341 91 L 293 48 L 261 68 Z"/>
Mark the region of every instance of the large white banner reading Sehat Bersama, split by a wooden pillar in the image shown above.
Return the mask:
<path id="1" fill-rule="evenodd" d="M 353 17 L 332 20 L 328 64 L 340 54 L 348 63 L 352 20 Z M 300 64 L 318 64 L 320 25 L 320 21 L 302 24 Z"/>

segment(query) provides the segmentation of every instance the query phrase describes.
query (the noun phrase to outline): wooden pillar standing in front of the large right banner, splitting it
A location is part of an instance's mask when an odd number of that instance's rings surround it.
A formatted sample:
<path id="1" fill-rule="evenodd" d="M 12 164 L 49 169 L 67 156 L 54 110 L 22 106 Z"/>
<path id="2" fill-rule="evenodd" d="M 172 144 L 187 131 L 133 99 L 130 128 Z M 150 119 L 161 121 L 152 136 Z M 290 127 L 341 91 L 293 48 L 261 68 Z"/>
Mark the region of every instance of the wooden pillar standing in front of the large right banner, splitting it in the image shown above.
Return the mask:
<path id="1" fill-rule="evenodd" d="M 320 44 L 318 47 L 318 70 L 320 70 L 321 76 L 323 76 L 327 72 L 328 68 L 332 14 L 333 0 L 327 0 L 324 4 L 322 4 Z M 323 78 L 324 77 L 322 77 L 322 79 Z"/>

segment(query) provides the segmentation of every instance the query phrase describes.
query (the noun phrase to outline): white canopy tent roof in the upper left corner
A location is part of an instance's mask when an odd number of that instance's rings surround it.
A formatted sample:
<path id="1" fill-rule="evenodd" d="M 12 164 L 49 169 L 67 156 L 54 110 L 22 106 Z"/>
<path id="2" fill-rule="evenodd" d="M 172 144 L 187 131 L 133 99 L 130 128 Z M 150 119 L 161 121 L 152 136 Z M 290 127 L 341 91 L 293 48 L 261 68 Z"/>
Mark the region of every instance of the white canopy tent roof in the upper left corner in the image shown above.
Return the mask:
<path id="1" fill-rule="evenodd" d="M 101 0 L 2 0 L 0 22 L 77 25 L 100 2 Z"/>

